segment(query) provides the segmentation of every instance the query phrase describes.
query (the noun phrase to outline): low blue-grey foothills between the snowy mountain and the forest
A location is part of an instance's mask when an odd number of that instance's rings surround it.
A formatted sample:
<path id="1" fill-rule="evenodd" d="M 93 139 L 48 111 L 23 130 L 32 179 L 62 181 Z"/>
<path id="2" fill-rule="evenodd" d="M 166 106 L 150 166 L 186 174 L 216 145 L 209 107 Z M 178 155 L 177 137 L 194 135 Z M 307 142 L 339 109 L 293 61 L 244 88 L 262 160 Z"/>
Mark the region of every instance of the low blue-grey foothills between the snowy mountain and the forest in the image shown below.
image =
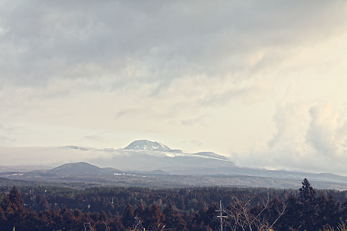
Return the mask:
<path id="1" fill-rule="evenodd" d="M 184 171 L 168 174 L 163 170 L 115 172 L 114 168 L 99 168 L 85 162 L 67 163 L 49 171 L 0 173 L 0 185 L 75 185 L 77 187 L 144 186 L 156 188 L 175 188 L 193 186 L 237 186 L 299 188 L 304 178 L 308 178 L 315 188 L 347 189 L 347 177 L 334 174 L 309 174 L 285 171 L 256 170 L 246 168 L 228 168 L 226 175 L 187 175 Z M 194 168 L 199 171 L 199 168 Z M 206 171 L 211 169 L 200 169 Z M 232 174 L 233 172 L 233 174 Z M 199 173 L 199 172 L 198 172 Z M 200 172 L 201 173 L 201 172 Z M 210 172 L 211 173 L 211 172 Z M 42 183 L 40 183 L 42 182 Z M 84 183 L 83 183 L 84 182 Z M 79 186 L 78 186 L 79 185 Z M 83 186 L 84 185 L 84 186 Z"/>

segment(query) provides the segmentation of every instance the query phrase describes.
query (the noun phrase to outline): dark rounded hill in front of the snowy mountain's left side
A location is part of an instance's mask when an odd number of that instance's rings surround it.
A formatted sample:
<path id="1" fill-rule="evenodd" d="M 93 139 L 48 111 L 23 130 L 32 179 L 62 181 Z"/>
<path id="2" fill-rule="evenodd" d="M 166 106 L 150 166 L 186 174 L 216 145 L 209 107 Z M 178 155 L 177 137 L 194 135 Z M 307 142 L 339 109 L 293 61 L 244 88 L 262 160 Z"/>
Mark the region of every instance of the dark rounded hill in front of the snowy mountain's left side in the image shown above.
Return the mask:
<path id="1" fill-rule="evenodd" d="M 103 169 L 98 166 L 88 164 L 85 162 L 78 162 L 78 163 L 63 164 L 49 171 L 52 173 L 68 173 L 68 174 L 113 174 L 115 170 L 117 169 L 110 171 L 109 169 Z"/>

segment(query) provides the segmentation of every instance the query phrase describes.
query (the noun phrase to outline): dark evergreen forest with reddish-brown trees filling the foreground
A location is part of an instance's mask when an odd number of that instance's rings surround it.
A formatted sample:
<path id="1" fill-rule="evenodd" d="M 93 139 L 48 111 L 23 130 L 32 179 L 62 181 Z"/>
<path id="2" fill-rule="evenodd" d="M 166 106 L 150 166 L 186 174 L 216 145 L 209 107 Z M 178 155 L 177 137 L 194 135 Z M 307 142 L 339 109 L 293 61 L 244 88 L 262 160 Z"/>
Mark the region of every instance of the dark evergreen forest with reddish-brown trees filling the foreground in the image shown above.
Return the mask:
<path id="1" fill-rule="evenodd" d="M 219 230 L 220 212 L 224 230 L 332 230 L 347 219 L 346 192 L 316 190 L 306 178 L 299 189 L 0 186 L 0 192 L 2 230 L 208 231 Z M 263 223 L 245 228 L 245 217 Z"/>

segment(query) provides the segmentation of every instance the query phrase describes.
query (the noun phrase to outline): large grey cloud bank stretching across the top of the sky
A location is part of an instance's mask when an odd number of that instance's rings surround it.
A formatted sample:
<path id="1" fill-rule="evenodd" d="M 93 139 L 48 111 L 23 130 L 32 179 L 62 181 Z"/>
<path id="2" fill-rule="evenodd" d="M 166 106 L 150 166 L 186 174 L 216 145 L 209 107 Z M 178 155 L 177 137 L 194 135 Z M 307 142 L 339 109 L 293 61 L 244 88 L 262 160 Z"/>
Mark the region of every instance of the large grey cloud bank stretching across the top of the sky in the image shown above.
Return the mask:
<path id="1" fill-rule="evenodd" d="M 340 2 L 196 5 L 14 4 L 3 11 L 2 76 L 35 86 L 106 76 L 113 86 L 135 81 L 161 88 L 187 73 L 223 77 L 262 68 L 277 60 L 279 46 L 326 39 L 345 26 Z"/>

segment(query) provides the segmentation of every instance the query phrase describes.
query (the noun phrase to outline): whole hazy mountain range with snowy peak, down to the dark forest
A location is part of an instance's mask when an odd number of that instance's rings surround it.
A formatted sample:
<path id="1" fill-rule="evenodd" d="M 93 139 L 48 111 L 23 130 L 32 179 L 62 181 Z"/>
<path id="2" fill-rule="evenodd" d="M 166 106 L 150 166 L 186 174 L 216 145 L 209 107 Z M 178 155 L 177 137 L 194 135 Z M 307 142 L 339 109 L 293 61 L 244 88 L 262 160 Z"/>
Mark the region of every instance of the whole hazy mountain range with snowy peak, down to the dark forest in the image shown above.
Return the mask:
<path id="1" fill-rule="evenodd" d="M 166 145 L 138 140 L 125 148 L 87 148 L 65 146 L 45 149 L 74 162 L 48 170 L 33 166 L 0 166 L 0 177 L 18 180 L 84 181 L 117 185 L 156 185 L 158 187 L 243 185 L 297 187 L 304 178 L 318 188 L 347 189 L 347 177 L 332 173 L 302 173 L 241 168 L 228 157 L 213 152 L 187 153 Z M 66 158 L 67 157 L 67 158 Z M 88 163 L 86 163 L 88 162 Z M 90 163 L 90 164 L 89 164 Z M 98 166 L 107 166 L 100 168 Z M 23 169 L 23 170 L 22 170 Z M 43 171 L 45 170 L 45 171 Z M 141 175 L 142 174 L 142 175 Z M 97 176 L 98 175 L 98 176 Z"/>

